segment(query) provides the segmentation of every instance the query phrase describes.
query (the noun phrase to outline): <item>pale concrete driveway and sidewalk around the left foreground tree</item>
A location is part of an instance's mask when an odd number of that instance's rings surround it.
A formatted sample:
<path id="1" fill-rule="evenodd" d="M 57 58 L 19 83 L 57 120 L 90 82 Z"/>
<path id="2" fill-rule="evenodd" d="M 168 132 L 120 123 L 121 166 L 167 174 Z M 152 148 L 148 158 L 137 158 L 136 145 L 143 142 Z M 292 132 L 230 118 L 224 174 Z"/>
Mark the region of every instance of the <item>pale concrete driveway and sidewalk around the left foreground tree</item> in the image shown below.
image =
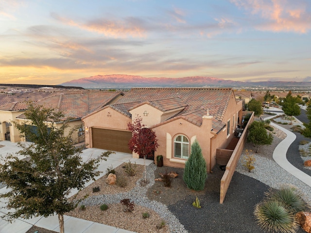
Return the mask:
<path id="1" fill-rule="evenodd" d="M 0 145 L 4 145 L 0 148 L 0 156 L 5 157 L 8 153 L 17 153 L 21 148 L 17 146 L 17 143 L 11 143 L 9 141 L 0 141 Z M 88 148 L 83 151 L 82 158 L 83 161 L 87 161 L 91 158 L 96 158 L 101 155 L 105 150 Z M 22 159 L 22 158 L 20 158 Z M 102 161 L 98 170 L 103 171 L 103 173 L 97 177 L 104 176 L 105 171 L 108 167 L 117 167 L 121 165 L 123 162 L 131 161 L 132 163 L 136 162 L 137 164 L 143 164 L 143 159 L 134 159 L 131 154 L 116 152 L 116 154 L 111 154 L 107 161 Z M 146 160 L 146 165 L 150 165 L 153 163 L 151 160 Z M 86 183 L 86 186 L 91 184 L 93 180 Z M 6 193 L 6 187 L 0 189 L 0 193 Z M 72 190 L 70 196 L 77 193 L 77 190 Z M 5 208 L 5 200 L 0 200 L 0 216 L 3 216 L 9 212 Z M 14 222 L 10 223 L 3 219 L 0 219 L 0 233 L 26 233 L 32 226 L 35 225 L 37 227 L 45 228 L 48 230 L 52 230 L 55 232 L 59 232 L 59 223 L 58 216 L 51 215 L 49 217 L 34 217 L 31 219 L 21 219 L 18 218 Z M 133 233 L 130 231 L 126 231 L 123 229 L 111 227 L 108 225 L 87 221 L 80 218 L 75 218 L 71 216 L 64 216 L 64 226 L 66 233 Z"/>

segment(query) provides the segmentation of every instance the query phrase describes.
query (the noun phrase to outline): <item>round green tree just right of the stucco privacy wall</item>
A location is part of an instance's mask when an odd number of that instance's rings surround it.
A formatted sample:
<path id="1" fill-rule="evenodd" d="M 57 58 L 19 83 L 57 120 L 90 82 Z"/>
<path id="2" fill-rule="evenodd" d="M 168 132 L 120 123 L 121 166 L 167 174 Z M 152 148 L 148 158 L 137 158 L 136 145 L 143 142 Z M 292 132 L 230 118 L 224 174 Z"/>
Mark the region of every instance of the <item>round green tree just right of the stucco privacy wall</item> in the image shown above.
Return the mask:
<path id="1" fill-rule="evenodd" d="M 251 125 L 249 125 L 247 132 L 247 142 L 254 144 L 256 153 L 258 153 L 258 149 L 261 145 L 271 144 L 272 141 L 272 134 L 267 133 L 267 130 L 264 127 L 264 122 L 254 121 Z"/>

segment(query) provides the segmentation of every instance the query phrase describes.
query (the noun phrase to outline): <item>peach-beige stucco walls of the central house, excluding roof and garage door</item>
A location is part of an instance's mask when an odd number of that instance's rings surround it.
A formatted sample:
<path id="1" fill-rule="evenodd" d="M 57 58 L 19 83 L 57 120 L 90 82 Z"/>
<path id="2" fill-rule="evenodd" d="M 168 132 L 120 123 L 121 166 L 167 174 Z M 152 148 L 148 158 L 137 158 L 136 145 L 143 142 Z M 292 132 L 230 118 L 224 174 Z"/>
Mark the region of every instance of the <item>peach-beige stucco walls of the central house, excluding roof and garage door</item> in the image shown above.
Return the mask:
<path id="1" fill-rule="evenodd" d="M 130 116 L 124 115 L 107 106 L 82 119 L 85 127 L 88 129 L 88 132 L 86 132 L 87 147 L 92 147 L 92 127 L 127 130 L 127 124 L 132 123 L 132 120 L 140 116 L 142 118 L 142 123 L 152 128 L 156 134 L 159 146 L 155 151 L 155 160 L 157 155 L 162 155 L 164 165 L 184 167 L 186 160 L 174 158 L 173 151 L 174 139 L 178 135 L 183 135 L 187 137 L 190 144 L 193 143 L 195 139 L 199 142 L 207 163 L 207 171 L 210 172 L 216 164 L 216 149 L 225 148 L 228 145 L 232 137 L 234 137 L 234 131 L 237 125 L 242 122 L 242 101 L 237 102 L 232 93 L 223 116 L 223 122 L 226 123 L 226 125 L 218 134 L 211 130 L 213 116 L 203 116 L 203 122 L 200 126 L 192 124 L 182 116 L 164 121 L 164 119 L 168 119 L 180 110 L 181 109 L 175 109 L 171 112 L 164 112 L 148 103 L 143 103 L 129 110 L 132 115 L 132 118 L 130 118 Z M 148 115 L 144 115 L 144 112 L 148 113 Z M 239 123 L 238 119 L 240 121 Z M 229 134 L 227 135 L 228 121 L 230 121 L 230 128 Z M 137 158 L 138 156 L 133 153 L 133 157 Z"/>

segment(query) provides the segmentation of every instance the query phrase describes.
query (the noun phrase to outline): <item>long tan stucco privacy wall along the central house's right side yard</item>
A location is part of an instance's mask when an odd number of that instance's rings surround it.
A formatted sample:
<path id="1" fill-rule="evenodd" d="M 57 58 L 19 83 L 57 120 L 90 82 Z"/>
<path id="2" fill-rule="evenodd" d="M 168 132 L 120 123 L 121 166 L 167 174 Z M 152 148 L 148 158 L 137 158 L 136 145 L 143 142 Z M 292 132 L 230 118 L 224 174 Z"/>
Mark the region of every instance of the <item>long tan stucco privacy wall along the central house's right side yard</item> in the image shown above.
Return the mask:
<path id="1" fill-rule="evenodd" d="M 254 112 L 252 113 L 252 116 L 250 117 L 246 127 L 244 128 L 244 131 L 241 135 L 241 138 L 236 145 L 230 160 L 228 161 L 226 167 L 225 167 L 225 173 L 220 181 L 220 200 L 219 202 L 222 204 L 225 199 L 225 194 L 227 193 L 227 190 L 229 188 L 229 184 L 231 182 L 232 176 L 234 174 L 235 168 L 237 167 L 238 161 L 240 159 L 240 156 L 242 154 L 242 150 L 244 148 L 244 144 L 246 142 L 247 137 L 247 128 L 248 126 L 255 121 Z"/>

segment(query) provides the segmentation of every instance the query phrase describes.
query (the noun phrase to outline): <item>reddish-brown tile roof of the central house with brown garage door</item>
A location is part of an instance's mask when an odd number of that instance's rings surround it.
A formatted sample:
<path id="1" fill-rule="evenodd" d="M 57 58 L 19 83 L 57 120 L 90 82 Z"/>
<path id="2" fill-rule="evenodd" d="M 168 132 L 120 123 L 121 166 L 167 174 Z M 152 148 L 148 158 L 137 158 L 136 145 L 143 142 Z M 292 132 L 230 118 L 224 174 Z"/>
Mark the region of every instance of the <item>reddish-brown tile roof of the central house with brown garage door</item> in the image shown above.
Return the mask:
<path id="1" fill-rule="evenodd" d="M 185 107 L 166 121 L 182 117 L 195 125 L 202 124 L 202 117 L 207 114 L 208 109 L 209 114 L 214 117 L 213 127 L 215 125 L 222 128 L 222 120 L 232 93 L 233 90 L 228 88 L 133 88 L 113 107 L 128 116 L 128 111 L 141 103 L 150 103 L 164 110 Z"/>

